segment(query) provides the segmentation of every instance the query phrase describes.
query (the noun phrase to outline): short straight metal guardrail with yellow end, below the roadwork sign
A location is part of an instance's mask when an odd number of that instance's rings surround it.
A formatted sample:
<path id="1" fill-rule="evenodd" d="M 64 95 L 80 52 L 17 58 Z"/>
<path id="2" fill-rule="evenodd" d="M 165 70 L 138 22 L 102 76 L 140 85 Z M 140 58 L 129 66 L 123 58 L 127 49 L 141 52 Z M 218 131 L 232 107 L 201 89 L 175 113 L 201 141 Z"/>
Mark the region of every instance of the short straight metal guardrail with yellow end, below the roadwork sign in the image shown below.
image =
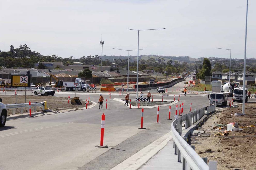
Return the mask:
<path id="1" fill-rule="evenodd" d="M 29 103 L 21 103 L 21 104 L 5 104 L 6 109 L 12 109 L 12 114 L 15 114 L 16 109 L 20 109 L 20 113 L 23 114 L 23 109 L 28 108 L 29 112 Z M 34 112 L 36 112 L 36 107 L 44 107 L 43 110 L 47 110 L 46 108 L 47 102 L 40 102 L 40 103 L 31 103 L 31 108 L 34 107 Z"/>

